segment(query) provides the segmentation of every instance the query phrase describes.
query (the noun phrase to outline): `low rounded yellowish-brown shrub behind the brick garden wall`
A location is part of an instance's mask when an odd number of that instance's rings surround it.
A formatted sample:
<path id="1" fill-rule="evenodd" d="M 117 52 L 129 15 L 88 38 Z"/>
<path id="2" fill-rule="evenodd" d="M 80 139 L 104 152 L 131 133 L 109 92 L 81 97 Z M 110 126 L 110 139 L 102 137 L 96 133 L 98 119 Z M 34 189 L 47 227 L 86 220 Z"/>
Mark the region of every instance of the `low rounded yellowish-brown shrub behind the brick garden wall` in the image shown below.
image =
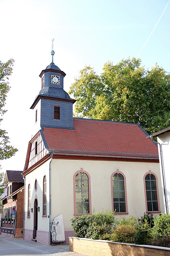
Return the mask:
<path id="1" fill-rule="evenodd" d="M 112 235 L 111 239 L 114 242 L 133 243 L 133 238 L 136 234 L 136 229 L 132 225 L 119 225 Z"/>

